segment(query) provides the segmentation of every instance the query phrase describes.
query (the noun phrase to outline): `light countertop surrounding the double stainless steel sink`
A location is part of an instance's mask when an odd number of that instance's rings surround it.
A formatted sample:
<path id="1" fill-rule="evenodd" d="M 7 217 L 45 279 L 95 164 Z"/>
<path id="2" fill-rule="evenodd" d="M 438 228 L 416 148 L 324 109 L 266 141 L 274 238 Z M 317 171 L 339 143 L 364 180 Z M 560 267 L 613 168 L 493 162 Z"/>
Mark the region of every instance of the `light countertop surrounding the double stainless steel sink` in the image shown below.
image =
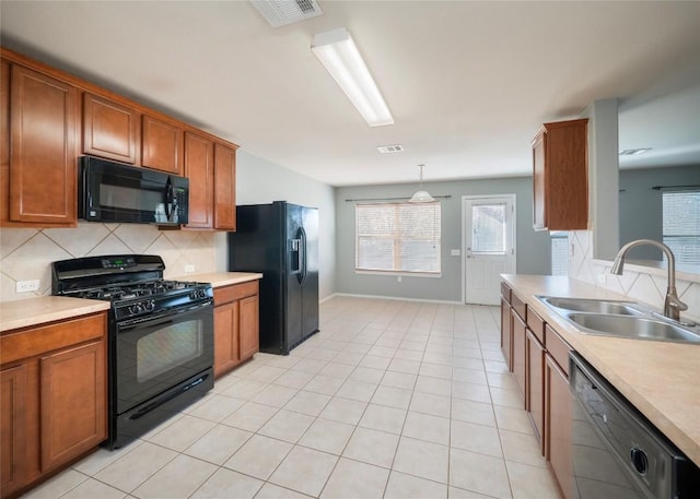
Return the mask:
<path id="1" fill-rule="evenodd" d="M 508 274 L 502 278 L 700 466 L 700 345 L 583 334 L 535 295 L 630 299 L 565 276 Z"/>

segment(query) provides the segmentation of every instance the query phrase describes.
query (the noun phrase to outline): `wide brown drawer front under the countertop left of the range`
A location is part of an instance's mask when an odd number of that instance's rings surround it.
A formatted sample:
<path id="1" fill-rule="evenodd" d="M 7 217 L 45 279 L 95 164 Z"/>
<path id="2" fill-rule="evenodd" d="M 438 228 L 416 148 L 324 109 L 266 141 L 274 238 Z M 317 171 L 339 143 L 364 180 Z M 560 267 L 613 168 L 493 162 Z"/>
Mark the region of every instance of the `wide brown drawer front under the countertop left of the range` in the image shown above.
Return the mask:
<path id="1" fill-rule="evenodd" d="M 106 317 L 105 312 L 4 334 L 0 336 L 0 364 L 103 337 L 107 330 Z"/>

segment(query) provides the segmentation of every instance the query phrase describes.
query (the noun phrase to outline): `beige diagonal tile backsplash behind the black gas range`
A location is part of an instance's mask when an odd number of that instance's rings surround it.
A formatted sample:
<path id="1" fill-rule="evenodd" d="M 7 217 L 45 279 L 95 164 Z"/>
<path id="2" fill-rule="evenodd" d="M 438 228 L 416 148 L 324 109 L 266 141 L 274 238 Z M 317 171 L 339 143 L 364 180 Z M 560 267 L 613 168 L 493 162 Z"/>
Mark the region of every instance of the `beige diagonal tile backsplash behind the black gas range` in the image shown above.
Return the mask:
<path id="1" fill-rule="evenodd" d="M 0 301 L 51 294 L 50 263 L 100 254 L 160 254 L 165 276 L 215 271 L 214 234 L 159 230 L 151 225 L 79 223 L 77 228 L 2 228 L 0 230 Z M 39 281 L 39 290 L 15 292 L 19 281 Z"/>

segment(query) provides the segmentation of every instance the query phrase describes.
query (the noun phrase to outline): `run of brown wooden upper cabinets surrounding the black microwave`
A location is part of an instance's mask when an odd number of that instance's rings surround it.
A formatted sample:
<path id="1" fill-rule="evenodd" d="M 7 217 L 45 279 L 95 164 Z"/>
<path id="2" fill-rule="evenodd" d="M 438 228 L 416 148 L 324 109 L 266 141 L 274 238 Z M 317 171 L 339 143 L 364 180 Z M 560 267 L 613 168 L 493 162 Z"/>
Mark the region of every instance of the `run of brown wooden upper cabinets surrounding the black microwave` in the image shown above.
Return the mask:
<path id="1" fill-rule="evenodd" d="M 0 226 L 74 227 L 86 154 L 188 177 L 186 228 L 235 230 L 237 145 L 12 50 L 0 56 Z"/>

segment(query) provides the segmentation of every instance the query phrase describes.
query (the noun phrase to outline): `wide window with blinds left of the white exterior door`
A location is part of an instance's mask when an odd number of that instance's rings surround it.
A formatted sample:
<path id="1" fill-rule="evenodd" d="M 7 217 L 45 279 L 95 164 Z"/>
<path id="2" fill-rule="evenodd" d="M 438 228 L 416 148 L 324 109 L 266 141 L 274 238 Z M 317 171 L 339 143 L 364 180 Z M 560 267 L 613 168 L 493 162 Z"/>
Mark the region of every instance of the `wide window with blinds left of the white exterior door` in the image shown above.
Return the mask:
<path id="1" fill-rule="evenodd" d="M 355 270 L 439 274 L 440 202 L 355 206 Z"/>

